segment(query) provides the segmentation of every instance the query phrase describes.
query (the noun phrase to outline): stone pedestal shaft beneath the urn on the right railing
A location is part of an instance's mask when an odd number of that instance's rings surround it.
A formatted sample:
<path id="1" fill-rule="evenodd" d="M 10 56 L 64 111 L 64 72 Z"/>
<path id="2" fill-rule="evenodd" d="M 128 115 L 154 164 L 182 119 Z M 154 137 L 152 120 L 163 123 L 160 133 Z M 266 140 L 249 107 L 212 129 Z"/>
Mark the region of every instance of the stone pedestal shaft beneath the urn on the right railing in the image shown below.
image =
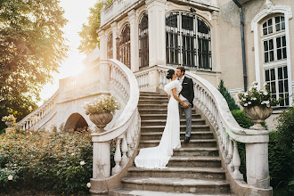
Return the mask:
<path id="1" fill-rule="evenodd" d="M 270 187 L 268 143 L 246 143 L 247 183 L 257 188 Z"/>

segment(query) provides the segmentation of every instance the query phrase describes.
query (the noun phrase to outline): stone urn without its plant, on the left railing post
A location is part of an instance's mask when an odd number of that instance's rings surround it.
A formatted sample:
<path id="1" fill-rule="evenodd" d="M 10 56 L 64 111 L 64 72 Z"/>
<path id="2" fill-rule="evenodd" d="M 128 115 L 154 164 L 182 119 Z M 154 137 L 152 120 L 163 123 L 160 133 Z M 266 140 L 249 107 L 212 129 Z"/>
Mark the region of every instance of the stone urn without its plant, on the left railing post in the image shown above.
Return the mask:
<path id="1" fill-rule="evenodd" d="M 103 110 L 102 113 L 91 113 L 89 118 L 100 129 L 100 131 L 103 132 L 104 127 L 110 123 L 113 115 L 110 113 L 110 111 Z"/>

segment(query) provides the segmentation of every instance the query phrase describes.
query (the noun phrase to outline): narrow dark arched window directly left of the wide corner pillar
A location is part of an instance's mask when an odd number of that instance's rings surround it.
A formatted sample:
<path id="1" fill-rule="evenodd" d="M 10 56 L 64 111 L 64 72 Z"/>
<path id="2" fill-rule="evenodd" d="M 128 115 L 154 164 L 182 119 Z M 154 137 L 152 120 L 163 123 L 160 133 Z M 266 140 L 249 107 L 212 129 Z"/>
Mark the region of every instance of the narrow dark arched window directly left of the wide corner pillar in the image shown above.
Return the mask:
<path id="1" fill-rule="evenodd" d="M 148 67 L 149 43 L 148 43 L 148 15 L 146 12 L 141 16 L 139 23 L 139 57 L 140 69 Z"/>

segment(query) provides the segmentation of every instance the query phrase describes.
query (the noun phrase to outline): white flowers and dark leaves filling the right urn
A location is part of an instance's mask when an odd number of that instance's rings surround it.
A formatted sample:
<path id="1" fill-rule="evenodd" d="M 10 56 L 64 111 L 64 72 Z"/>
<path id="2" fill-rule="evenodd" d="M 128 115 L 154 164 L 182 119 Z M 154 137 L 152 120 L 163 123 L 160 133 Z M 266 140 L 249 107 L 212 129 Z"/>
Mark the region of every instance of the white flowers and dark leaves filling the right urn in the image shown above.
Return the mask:
<path id="1" fill-rule="evenodd" d="M 252 107 L 252 106 L 264 106 L 271 107 L 276 106 L 281 101 L 281 98 L 276 100 L 271 96 L 269 87 L 265 85 L 265 90 L 257 90 L 257 82 L 253 83 L 253 86 L 249 88 L 246 93 L 237 94 L 238 102 L 242 107 Z"/>

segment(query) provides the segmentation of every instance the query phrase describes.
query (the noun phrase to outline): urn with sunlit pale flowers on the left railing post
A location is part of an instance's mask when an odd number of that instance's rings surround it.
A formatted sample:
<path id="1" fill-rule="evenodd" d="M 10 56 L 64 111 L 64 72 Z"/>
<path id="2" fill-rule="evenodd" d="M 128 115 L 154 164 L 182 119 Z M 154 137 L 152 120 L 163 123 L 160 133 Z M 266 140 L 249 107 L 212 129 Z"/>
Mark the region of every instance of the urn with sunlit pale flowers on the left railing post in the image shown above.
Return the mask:
<path id="1" fill-rule="evenodd" d="M 115 110 L 119 110 L 121 105 L 113 96 L 102 95 L 100 99 L 94 99 L 94 102 L 85 102 L 83 107 L 90 120 L 103 131 L 112 120 Z"/>

